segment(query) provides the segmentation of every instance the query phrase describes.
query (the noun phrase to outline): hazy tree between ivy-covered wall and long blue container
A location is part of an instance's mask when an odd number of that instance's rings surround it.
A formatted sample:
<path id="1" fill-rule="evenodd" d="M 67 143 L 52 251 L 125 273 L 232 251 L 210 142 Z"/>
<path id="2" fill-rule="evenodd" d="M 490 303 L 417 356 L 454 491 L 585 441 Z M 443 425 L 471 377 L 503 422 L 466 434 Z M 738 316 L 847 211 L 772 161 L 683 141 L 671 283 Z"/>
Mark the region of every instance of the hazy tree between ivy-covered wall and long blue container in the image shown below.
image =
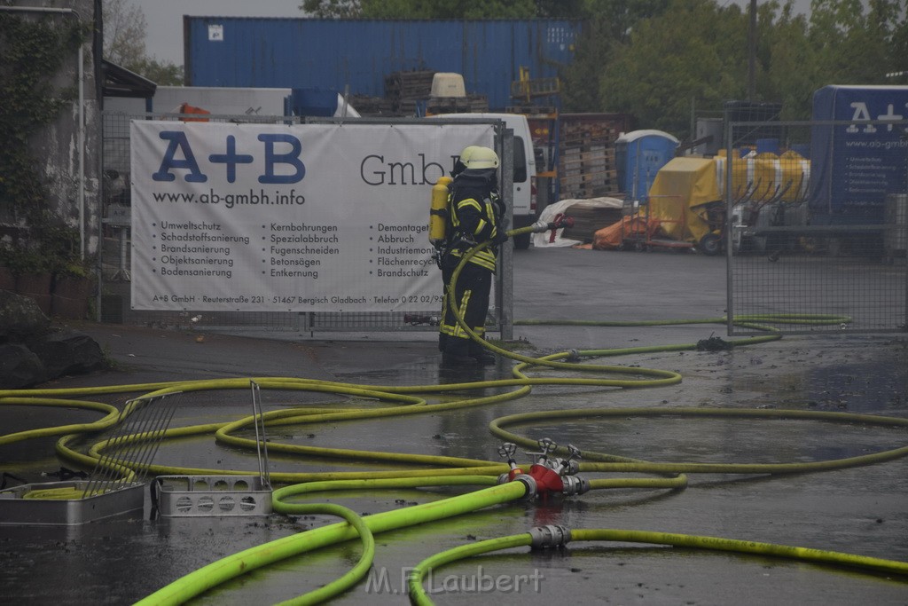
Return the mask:
<path id="1" fill-rule="evenodd" d="M 104 0 L 104 58 L 156 84 L 183 84 L 183 67 L 159 62 L 145 52 L 145 14 L 129 0 Z"/>

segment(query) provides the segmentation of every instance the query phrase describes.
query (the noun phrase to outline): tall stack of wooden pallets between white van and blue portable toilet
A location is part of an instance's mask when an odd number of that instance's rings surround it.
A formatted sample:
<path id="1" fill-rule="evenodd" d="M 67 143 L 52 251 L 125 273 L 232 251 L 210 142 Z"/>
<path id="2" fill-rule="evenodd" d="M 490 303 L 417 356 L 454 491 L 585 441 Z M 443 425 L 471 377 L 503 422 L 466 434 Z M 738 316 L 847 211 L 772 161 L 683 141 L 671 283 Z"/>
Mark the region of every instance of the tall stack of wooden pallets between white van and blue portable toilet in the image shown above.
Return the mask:
<path id="1" fill-rule="evenodd" d="M 562 124 L 558 162 L 562 200 L 617 194 L 617 136 L 610 124 L 596 121 Z"/>

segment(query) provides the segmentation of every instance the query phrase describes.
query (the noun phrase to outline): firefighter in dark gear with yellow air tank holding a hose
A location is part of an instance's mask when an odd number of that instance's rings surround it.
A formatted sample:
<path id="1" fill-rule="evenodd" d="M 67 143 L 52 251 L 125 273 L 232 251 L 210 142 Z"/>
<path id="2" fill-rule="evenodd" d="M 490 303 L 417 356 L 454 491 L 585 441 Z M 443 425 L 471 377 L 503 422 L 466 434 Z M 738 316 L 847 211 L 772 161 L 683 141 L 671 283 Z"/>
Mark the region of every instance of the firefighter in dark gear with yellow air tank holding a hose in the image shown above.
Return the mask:
<path id="1" fill-rule="evenodd" d="M 498 154 L 489 147 L 469 146 L 461 152 L 459 166 L 451 175 L 448 244 L 441 261 L 444 298 L 439 326 L 439 349 L 443 366 L 485 366 L 495 356 L 473 341 L 459 325 L 451 309 L 451 278 L 463 256 L 474 246 L 490 242 L 489 247 L 472 256 L 461 269 L 455 285 L 457 311 L 480 337 L 486 332 L 492 274 L 496 270 L 498 246 L 508 236 L 502 219 L 504 205 L 498 196 Z"/>

